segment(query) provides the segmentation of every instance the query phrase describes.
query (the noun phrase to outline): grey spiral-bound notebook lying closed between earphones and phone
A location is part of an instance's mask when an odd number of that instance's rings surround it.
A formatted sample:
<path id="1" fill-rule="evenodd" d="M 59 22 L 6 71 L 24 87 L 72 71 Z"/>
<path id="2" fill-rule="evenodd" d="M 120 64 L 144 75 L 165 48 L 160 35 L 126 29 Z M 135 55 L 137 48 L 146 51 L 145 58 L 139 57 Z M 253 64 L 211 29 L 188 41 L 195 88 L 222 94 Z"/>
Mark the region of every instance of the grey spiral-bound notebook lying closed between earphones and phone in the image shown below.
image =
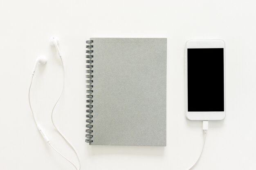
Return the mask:
<path id="1" fill-rule="evenodd" d="M 86 142 L 166 146 L 166 38 L 86 41 Z"/>

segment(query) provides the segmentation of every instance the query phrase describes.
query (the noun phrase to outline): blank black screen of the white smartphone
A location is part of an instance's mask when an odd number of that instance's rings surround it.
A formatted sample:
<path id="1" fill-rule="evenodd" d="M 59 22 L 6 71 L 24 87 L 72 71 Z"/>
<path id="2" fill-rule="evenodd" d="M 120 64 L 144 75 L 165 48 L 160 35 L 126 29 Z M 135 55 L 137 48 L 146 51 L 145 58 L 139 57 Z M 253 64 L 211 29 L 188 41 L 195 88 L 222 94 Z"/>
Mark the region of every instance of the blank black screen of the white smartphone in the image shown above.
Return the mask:
<path id="1" fill-rule="evenodd" d="M 187 49 L 188 111 L 224 111 L 224 49 Z"/>

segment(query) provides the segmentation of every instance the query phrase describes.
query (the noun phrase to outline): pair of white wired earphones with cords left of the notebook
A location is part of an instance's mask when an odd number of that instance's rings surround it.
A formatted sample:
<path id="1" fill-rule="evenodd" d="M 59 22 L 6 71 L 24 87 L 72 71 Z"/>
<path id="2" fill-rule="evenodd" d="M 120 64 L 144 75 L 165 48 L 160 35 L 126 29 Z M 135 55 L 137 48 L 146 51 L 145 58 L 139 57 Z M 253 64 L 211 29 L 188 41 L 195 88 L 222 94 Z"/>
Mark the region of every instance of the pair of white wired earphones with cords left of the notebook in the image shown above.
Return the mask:
<path id="1" fill-rule="evenodd" d="M 56 150 L 56 148 L 54 148 L 54 146 L 52 146 L 52 144 L 50 143 L 50 140 L 49 138 L 47 137 L 46 133 L 43 131 L 43 129 L 41 128 L 41 126 L 38 124 L 38 122 L 36 121 L 36 117 L 34 115 L 34 112 L 32 110 L 32 107 L 31 107 L 31 102 L 30 102 L 30 90 L 31 90 L 31 85 L 32 85 L 32 82 L 33 82 L 33 77 L 34 77 L 34 74 L 36 72 L 36 68 L 38 66 L 38 64 L 40 65 L 44 65 L 46 64 L 47 62 L 47 59 L 46 57 L 44 56 L 38 56 L 37 59 L 36 59 L 36 62 L 34 64 L 34 68 L 33 68 L 33 72 L 32 72 L 32 77 L 31 77 L 31 83 L 30 83 L 30 86 L 29 86 L 29 106 L 30 106 L 30 109 L 31 109 L 31 113 L 33 115 L 33 119 L 34 119 L 34 122 L 36 124 L 36 127 L 38 129 L 38 131 L 40 132 L 40 134 L 42 135 L 43 139 L 47 142 L 47 144 L 49 144 L 49 146 L 51 146 L 59 155 L 61 155 L 61 157 L 63 157 L 64 159 L 66 159 L 68 162 L 70 162 L 72 164 L 72 166 L 74 166 L 74 168 L 76 168 L 76 170 L 80 170 L 81 168 L 81 162 L 80 162 L 80 159 L 79 159 L 79 156 L 74 148 L 74 146 L 72 146 L 72 144 L 64 137 L 64 135 L 60 132 L 60 130 L 58 130 L 58 128 L 56 127 L 55 123 L 54 123 L 54 119 L 53 119 L 53 113 L 54 113 L 54 108 L 55 106 L 57 105 L 59 99 L 61 98 L 61 95 L 63 93 L 63 89 L 64 89 L 64 85 L 65 85 L 65 70 L 64 70 L 64 64 L 63 64 L 63 60 L 62 60 L 62 57 L 61 57 L 61 53 L 60 53 L 60 50 L 59 50 L 59 47 L 58 47 L 58 38 L 56 37 L 52 37 L 50 38 L 50 44 L 55 46 L 56 48 L 56 51 L 58 53 L 58 56 L 60 57 L 61 59 L 61 64 L 62 64 L 62 68 L 63 68 L 63 86 L 62 86 L 62 90 L 61 90 L 61 94 L 59 95 L 56 103 L 54 104 L 53 108 L 52 108 L 52 113 L 51 113 L 51 118 L 52 118 L 52 124 L 54 126 L 54 128 L 57 130 L 57 132 L 61 135 L 61 137 L 63 137 L 63 139 L 66 141 L 66 143 L 72 148 L 72 150 L 74 151 L 74 153 L 76 154 L 76 157 L 79 161 L 79 168 L 77 168 L 74 163 L 72 163 L 69 159 L 67 159 L 64 155 L 62 155 L 58 150 Z"/>

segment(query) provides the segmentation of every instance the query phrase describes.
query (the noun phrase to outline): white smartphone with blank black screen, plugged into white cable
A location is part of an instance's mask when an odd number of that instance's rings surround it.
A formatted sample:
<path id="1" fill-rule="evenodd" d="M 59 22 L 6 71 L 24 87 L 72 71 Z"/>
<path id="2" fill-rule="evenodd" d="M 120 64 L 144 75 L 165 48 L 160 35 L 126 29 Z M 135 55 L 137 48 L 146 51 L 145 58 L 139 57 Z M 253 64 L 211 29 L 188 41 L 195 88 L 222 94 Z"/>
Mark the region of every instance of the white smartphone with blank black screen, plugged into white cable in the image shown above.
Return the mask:
<path id="1" fill-rule="evenodd" d="M 185 55 L 187 119 L 224 119 L 225 42 L 189 40 Z"/>

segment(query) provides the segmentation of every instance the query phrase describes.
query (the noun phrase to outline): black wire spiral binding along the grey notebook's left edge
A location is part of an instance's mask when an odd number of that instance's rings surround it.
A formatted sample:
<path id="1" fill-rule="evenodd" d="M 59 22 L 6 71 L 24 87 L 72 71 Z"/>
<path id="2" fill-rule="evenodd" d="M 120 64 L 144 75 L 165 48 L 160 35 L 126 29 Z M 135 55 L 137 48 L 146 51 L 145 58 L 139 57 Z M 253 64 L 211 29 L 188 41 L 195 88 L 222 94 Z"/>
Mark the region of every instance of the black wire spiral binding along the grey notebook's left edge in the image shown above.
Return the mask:
<path id="1" fill-rule="evenodd" d="M 89 45 L 86 45 L 86 48 L 89 49 L 89 50 L 86 50 L 86 53 L 88 53 L 88 55 L 86 55 L 86 58 L 89 59 L 89 60 L 86 60 L 86 63 L 89 63 L 89 65 L 86 65 L 86 68 L 88 68 L 89 70 L 86 70 L 85 72 L 89 73 L 89 75 L 86 75 L 85 77 L 89 78 L 89 79 L 85 80 L 85 82 L 89 83 L 89 85 L 86 85 L 86 88 L 89 88 L 89 90 L 86 90 L 86 93 L 89 93 L 89 95 L 86 95 L 86 97 L 88 98 L 86 100 L 86 103 L 88 103 L 86 105 L 86 108 L 88 108 L 86 110 L 86 113 L 88 113 L 86 115 L 86 117 L 88 118 L 88 119 L 86 119 L 86 123 L 88 123 L 88 124 L 85 126 L 87 128 L 85 130 L 85 132 L 87 132 L 88 134 L 86 134 L 85 137 L 88 139 L 85 139 L 85 142 L 92 143 L 93 142 L 93 140 L 92 140 L 92 137 L 93 137 L 93 135 L 92 135 L 92 132 L 93 132 L 93 130 L 92 130 L 92 127 L 93 127 L 93 125 L 92 125 L 92 122 L 93 122 L 93 120 L 92 120 L 92 118 L 93 118 L 93 115 L 92 115 L 92 113 L 93 113 L 93 110 L 92 110 L 92 108 L 93 108 L 93 105 L 92 105 L 92 103 L 93 103 L 93 100 L 92 100 L 92 97 L 93 97 L 93 95 L 92 95 L 92 93 L 93 93 L 93 90 L 92 90 L 92 88 L 93 88 L 93 85 L 92 85 L 92 83 L 93 83 L 93 80 L 92 80 L 92 78 L 93 78 L 93 75 L 92 75 L 92 73 L 93 73 L 93 70 L 92 70 L 92 68 L 93 68 L 93 65 L 92 65 L 92 63 L 93 63 L 93 60 L 92 60 L 93 45 L 92 45 L 92 43 L 93 43 L 93 40 L 88 40 L 88 41 L 86 41 L 86 43 L 89 44 Z"/>

